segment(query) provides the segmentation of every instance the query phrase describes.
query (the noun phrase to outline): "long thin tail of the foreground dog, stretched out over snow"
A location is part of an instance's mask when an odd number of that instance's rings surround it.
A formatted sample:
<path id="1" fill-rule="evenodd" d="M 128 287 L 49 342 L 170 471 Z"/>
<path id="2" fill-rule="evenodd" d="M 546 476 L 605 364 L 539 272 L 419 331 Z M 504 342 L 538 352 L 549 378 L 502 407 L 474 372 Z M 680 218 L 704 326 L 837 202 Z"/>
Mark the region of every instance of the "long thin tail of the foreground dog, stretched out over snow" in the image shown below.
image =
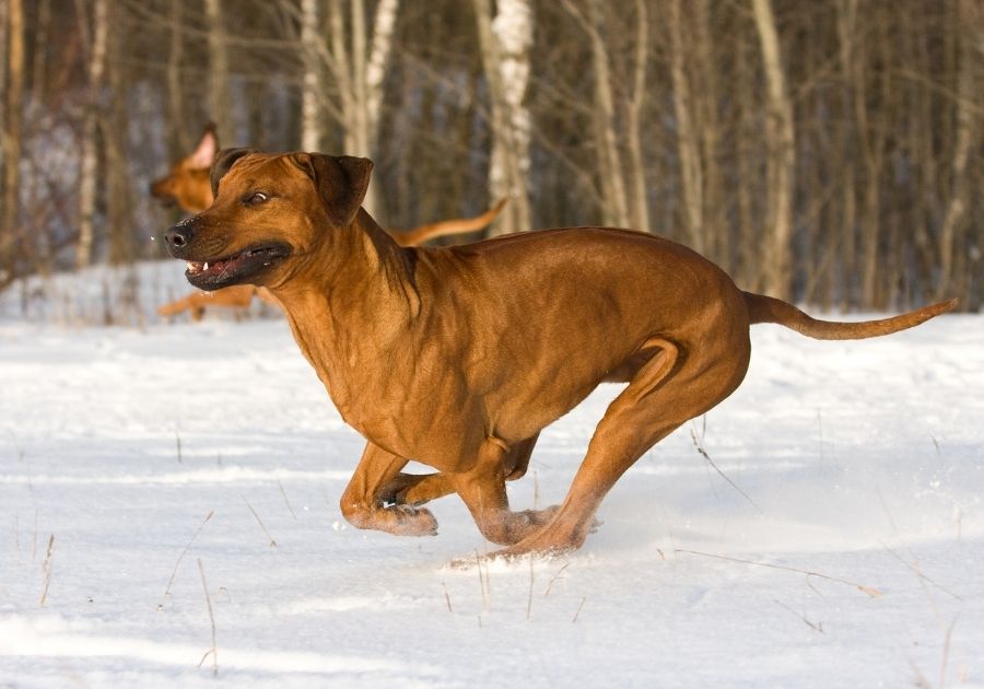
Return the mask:
<path id="1" fill-rule="evenodd" d="M 796 306 L 781 299 L 752 292 L 742 292 L 741 295 L 748 306 L 749 323 L 776 323 L 818 340 L 860 340 L 866 337 L 880 337 L 898 332 L 950 311 L 959 301 L 951 299 L 880 320 L 837 323 L 810 318 Z"/>

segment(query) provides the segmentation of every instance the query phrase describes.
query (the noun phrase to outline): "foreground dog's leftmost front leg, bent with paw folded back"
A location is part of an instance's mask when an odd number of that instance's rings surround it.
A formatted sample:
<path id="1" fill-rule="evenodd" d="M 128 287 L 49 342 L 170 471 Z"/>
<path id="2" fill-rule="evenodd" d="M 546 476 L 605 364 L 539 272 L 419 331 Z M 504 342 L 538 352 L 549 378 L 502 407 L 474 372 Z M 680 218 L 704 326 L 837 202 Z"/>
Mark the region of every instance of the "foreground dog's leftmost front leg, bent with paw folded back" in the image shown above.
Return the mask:
<path id="1" fill-rule="evenodd" d="M 426 510 L 409 505 L 383 505 L 380 489 L 393 481 L 407 459 L 366 443 L 355 474 L 342 493 L 345 519 L 359 528 L 373 528 L 398 536 L 433 536 L 437 519 Z"/>

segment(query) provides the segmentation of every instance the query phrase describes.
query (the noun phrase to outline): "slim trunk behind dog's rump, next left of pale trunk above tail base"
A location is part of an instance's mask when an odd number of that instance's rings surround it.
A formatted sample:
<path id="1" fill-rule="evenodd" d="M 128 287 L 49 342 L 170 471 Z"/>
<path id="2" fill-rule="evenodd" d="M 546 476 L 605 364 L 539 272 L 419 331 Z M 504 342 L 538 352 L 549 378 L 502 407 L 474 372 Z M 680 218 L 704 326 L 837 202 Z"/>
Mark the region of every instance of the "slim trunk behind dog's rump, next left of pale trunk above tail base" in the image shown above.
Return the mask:
<path id="1" fill-rule="evenodd" d="M 683 35 L 681 0 L 667 3 L 670 34 L 670 75 L 673 83 L 673 118 L 677 125 L 677 151 L 680 159 L 680 188 L 683 197 L 683 222 L 691 248 L 703 254 L 704 180 L 701 167 L 701 145 L 693 124 L 693 100 L 687 79 L 686 60 L 689 40 Z"/>

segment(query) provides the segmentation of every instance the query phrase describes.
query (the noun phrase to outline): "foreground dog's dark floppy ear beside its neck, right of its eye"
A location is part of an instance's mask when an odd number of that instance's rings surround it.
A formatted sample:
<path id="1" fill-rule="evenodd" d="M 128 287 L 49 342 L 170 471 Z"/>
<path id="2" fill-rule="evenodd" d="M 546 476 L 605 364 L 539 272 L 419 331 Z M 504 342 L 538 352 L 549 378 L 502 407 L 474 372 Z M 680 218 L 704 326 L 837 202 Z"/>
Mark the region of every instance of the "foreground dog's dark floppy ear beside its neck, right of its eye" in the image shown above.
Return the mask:
<path id="1" fill-rule="evenodd" d="M 367 157 L 324 153 L 297 153 L 294 160 L 314 179 L 331 223 L 337 227 L 352 224 L 365 199 L 373 162 Z"/>

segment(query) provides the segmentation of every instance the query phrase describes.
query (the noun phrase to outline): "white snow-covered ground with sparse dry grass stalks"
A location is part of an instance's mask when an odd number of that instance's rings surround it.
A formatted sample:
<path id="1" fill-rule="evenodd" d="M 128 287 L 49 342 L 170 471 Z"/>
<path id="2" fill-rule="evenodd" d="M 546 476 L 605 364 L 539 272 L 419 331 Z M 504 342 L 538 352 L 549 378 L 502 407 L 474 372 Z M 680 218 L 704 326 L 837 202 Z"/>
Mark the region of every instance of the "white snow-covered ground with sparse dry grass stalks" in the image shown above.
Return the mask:
<path id="1" fill-rule="evenodd" d="M 134 308 L 179 272 L 141 270 Z M 0 299 L 0 687 L 984 686 L 982 316 L 758 326 L 742 387 L 581 551 L 452 568 L 491 549 L 454 497 L 432 538 L 343 522 L 362 442 L 281 319 L 80 325 L 68 284 Z M 514 505 L 563 498 L 617 390 L 541 436 Z"/>

